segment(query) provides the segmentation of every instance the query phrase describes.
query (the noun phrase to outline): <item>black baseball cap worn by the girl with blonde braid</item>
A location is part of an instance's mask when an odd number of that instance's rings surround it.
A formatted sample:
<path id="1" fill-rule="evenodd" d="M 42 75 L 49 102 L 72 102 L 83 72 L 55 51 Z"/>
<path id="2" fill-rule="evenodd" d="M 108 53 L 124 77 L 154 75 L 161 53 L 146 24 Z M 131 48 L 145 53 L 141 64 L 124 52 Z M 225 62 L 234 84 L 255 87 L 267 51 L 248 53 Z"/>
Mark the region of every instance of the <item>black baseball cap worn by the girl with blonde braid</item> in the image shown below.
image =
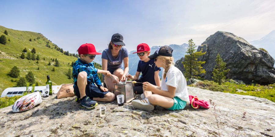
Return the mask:
<path id="1" fill-rule="evenodd" d="M 154 59 L 158 56 L 167 56 L 167 57 L 172 57 L 172 52 L 173 52 L 173 49 L 172 47 L 169 47 L 169 46 L 161 46 L 161 47 L 158 47 L 155 51 L 154 54 L 148 56 L 148 58 L 150 59 Z"/>

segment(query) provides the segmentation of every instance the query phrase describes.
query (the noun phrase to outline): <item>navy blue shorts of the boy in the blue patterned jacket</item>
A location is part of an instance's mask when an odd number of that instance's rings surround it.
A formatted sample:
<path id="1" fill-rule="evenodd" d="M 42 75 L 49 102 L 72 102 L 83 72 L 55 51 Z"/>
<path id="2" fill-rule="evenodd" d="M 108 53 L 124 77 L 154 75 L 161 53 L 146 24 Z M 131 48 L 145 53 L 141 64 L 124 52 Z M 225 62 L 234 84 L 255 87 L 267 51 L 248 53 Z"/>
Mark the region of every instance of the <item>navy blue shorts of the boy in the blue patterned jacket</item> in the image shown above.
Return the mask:
<path id="1" fill-rule="evenodd" d="M 75 96 L 80 98 L 80 93 L 79 93 L 77 83 L 75 83 L 74 93 L 75 93 Z M 108 91 L 103 92 L 96 85 L 94 85 L 94 83 L 89 83 L 88 82 L 88 84 L 86 85 L 85 93 L 90 98 L 92 98 L 92 97 L 103 98 L 104 95 L 108 93 Z"/>

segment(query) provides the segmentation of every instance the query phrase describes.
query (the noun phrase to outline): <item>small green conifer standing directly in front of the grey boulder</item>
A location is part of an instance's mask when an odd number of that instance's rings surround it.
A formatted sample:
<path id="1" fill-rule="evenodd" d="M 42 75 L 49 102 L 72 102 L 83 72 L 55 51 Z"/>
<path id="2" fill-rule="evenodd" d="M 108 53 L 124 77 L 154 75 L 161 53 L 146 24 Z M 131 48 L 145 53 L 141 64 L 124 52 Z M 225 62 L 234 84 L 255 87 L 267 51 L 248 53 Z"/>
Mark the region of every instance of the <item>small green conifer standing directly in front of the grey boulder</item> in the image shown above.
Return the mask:
<path id="1" fill-rule="evenodd" d="M 222 80 L 226 79 L 226 74 L 229 72 L 230 69 L 226 69 L 226 63 L 222 61 L 222 58 L 220 57 L 220 54 L 216 57 L 216 65 L 213 69 L 213 77 L 215 83 L 218 83 L 219 85 L 222 84 Z"/>

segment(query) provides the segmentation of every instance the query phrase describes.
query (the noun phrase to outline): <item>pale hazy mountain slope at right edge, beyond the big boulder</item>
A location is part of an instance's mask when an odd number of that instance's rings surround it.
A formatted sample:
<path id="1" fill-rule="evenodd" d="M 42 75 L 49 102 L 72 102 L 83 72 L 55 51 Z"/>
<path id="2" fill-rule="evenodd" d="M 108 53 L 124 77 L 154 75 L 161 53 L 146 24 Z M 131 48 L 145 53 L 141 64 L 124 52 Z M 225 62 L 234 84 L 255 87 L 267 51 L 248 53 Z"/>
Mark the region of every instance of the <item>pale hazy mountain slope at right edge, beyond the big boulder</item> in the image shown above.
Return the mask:
<path id="1" fill-rule="evenodd" d="M 275 59 L 275 30 L 268 33 L 259 40 L 249 41 L 250 44 L 257 48 L 264 48 Z"/>

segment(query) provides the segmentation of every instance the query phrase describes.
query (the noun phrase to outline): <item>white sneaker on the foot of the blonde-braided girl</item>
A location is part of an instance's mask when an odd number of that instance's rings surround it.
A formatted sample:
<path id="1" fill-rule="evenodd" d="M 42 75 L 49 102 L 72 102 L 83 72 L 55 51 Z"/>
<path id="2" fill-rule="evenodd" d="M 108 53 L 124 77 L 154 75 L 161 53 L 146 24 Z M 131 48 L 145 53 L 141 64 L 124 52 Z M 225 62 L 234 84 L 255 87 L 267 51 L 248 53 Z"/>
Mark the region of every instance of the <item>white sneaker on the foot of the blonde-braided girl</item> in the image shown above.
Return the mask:
<path id="1" fill-rule="evenodd" d="M 152 111 L 155 109 L 155 107 L 148 101 L 148 99 L 133 100 L 132 105 L 134 108 L 141 109 L 141 110 Z"/>

